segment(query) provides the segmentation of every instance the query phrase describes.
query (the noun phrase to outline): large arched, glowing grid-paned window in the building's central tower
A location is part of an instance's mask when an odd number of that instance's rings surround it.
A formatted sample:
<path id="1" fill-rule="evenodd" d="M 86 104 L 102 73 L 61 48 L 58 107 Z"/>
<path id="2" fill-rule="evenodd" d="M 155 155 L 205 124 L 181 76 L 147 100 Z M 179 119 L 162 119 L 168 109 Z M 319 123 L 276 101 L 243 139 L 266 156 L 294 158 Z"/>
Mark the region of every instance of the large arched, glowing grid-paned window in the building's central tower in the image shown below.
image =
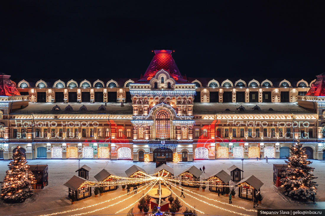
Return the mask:
<path id="1" fill-rule="evenodd" d="M 159 110 L 155 118 L 156 138 L 170 139 L 170 116 L 166 110 Z"/>

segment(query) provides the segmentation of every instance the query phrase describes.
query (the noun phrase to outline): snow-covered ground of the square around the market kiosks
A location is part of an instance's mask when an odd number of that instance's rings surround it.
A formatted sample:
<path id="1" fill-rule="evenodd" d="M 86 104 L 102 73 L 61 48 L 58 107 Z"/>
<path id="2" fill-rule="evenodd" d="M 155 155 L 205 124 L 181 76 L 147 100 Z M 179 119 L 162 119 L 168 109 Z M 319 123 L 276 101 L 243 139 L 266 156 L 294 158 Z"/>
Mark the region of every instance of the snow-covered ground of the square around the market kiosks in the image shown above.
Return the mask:
<path id="1" fill-rule="evenodd" d="M 302 204 L 295 201 L 288 200 L 283 197 L 277 189 L 273 186 L 273 164 L 282 164 L 284 160 L 268 160 L 268 163 L 265 160 L 244 160 L 244 177 L 249 175 L 255 175 L 258 179 L 260 179 L 264 185 L 261 187 L 261 193 L 264 196 L 262 204 L 258 208 L 272 208 L 272 209 L 325 209 L 325 183 L 323 179 L 325 179 L 325 161 L 317 161 L 313 160 L 311 164 L 312 167 L 315 167 L 314 174 L 318 179 L 316 182 L 318 184 L 318 193 L 316 195 L 316 204 Z M 8 161 L 0 161 L 0 179 L 5 177 L 5 171 L 7 170 Z M 99 196 L 95 198 L 94 194 L 91 198 L 86 198 L 81 201 L 77 201 L 75 205 L 71 205 L 68 195 L 68 188 L 63 186 L 65 182 L 67 182 L 73 175 L 77 174 L 75 171 L 78 169 L 78 160 L 32 160 L 28 161 L 28 164 L 48 164 L 49 167 L 49 186 L 47 186 L 43 191 L 37 191 L 36 195 L 32 198 L 27 199 L 24 203 L 21 204 L 5 204 L 0 201 L 0 215 L 17 215 L 17 214 L 25 214 L 25 215 L 41 215 L 45 213 L 53 213 L 63 210 L 70 210 L 74 208 L 84 207 L 86 205 L 92 205 L 98 202 L 105 201 L 110 198 L 114 198 L 120 196 L 125 193 L 122 191 L 122 188 L 118 188 L 118 190 L 113 192 L 104 193 L 103 196 Z M 128 169 L 133 164 L 136 164 L 139 167 L 145 169 L 149 174 L 152 174 L 155 169 L 155 163 L 144 163 L 144 162 L 132 162 L 132 161 L 110 161 L 110 160 L 81 160 L 80 166 L 86 164 L 91 167 L 91 171 L 89 172 L 89 180 L 96 181 L 93 177 L 103 168 L 115 173 L 116 175 L 126 176 L 125 170 Z M 180 174 L 184 169 L 195 165 L 200 168 L 203 165 L 206 167 L 205 173 L 201 175 L 201 178 L 208 178 L 213 174 L 219 172 L 220 170 L 225 170 L 227 173 L 231 165 L 235 164 L 236 166 L 242 166 L 241 160 L 204 160 L 204 161 L 195 161 L 195 162 L 179 162 L 179 163 L 167 163 L 167 165 L 171 166 L 174 169 L 174 174 Z M 174 189 L 174 191 L 177 193 Z M 198 192 L 201 195 L 207 196 L 208 198 L 214 198 L 223 202 L 228 202 L 228 198 L 225 196 L 218 197 L 216 193 L 209 192 L 206 189 L 205 192 L 193 190 L 194 192 Z M 142 192 L 141 192 L 142 193 Z M 105 214 L 114 214 L 116 211 L 125 208 L 130 205 L 137 198 L 139 198 L 141 194 L 136 195 L 133 198 L 124 201 L 123 203 L 119 203 L 117 205 L 111 206 L 109 208 L 96 211 L 89 215 L 105 215 Z M 203 199 L 203 198 L 202 198 Z M 104 204 L 100 204 L 96 207 L 90 207 L 83 210 L 78 210 L 71 212 L 70 214 L 63 215 L 71 215 L 73 213 L 83 213 L 89 210 L 103 208 L 107 205 L 113 204 L 116 201 L 121 199 L 116 199 L 114 201 L 110 201 Z M 196 205 L 196 207 L 205 214 L 212 215 L 231 215 L 231 213 L 216 209 L 215 207 L 208 206 L 206 204 L 201 203 L 198 200 L 193 198 L 189 198 L 185 195 L 184 201 Z M 221 204 L 214 201 L 208 201 L 216 206 L 234 210 L 237 212 L 256 215 L 256 213 L 248 212 L 245 210 L 240 210 L 238 208 L 234 208 L 225 204 Z M 247 200 L 243 200 L 238 198 L 238 189 L 236 188 L 236 196 L 233 199 L 233 204 L 245 207 L 247 209 L 253 209 L 253 203 Z M 183 205 L 185 205 L 183 203 Z M 122 215 L 127 215 L 127 212 L 132 207 L 122 211 L 124 213 Z M 28 213 L 30 212 L 30 213 Z M 62 214 L 61 214 L 62 215 Z M 83 214 L 81 214 L 83 215 Z"/>

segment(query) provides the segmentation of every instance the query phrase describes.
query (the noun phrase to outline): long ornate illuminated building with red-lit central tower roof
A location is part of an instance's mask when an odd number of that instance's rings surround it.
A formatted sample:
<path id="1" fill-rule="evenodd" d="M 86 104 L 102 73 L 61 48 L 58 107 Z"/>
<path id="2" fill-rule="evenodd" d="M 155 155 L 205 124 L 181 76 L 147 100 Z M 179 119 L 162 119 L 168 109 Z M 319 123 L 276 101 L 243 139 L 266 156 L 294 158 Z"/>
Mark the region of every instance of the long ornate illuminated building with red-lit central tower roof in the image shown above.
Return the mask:
<path id="1" fill-rule="evenodd" d="M 155 50 L 138 78 L 0 77 L 0 158 L 173 161 L 283 158 L 300 138 L 323 159 L 325 89 L 317 79 L 187 78 Z M 144 160 L 146 159 L 146 160 Z"/>

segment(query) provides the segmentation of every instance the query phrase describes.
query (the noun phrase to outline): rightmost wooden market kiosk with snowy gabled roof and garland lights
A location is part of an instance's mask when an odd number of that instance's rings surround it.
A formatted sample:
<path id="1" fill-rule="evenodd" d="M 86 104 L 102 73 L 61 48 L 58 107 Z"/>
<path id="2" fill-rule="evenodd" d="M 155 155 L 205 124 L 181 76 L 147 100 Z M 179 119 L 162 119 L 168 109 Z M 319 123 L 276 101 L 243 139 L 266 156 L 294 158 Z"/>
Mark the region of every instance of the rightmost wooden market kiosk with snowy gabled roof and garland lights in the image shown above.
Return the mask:
<path id="1" fill-rule="evenodd" d="M 257 192 L 260 191 L 263 182 L 251 175 L 237 183 L 239 187 L 239 198 L 253 200 Z"/>

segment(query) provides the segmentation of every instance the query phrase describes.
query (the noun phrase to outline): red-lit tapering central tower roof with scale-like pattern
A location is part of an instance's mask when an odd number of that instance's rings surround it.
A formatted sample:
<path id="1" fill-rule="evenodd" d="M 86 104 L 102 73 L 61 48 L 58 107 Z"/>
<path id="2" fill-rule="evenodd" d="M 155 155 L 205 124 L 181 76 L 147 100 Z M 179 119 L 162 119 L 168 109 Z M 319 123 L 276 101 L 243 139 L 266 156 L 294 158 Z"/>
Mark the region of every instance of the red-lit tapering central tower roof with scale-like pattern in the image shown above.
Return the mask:
<path id="1" fill-rule="evenodd" d="M 146 73 L 144 74 L 143 78 L 140 79 L 140 81 L 150 80 L 156 75 L 157 71 L 161 69 L 168 71 L 170 76 L 175 80 L 178 80 L 178 78 L 183 78 L 172 57 L 172 50 L 155 50 L 154 52 L 155 56 L 153 56 Z"/>

